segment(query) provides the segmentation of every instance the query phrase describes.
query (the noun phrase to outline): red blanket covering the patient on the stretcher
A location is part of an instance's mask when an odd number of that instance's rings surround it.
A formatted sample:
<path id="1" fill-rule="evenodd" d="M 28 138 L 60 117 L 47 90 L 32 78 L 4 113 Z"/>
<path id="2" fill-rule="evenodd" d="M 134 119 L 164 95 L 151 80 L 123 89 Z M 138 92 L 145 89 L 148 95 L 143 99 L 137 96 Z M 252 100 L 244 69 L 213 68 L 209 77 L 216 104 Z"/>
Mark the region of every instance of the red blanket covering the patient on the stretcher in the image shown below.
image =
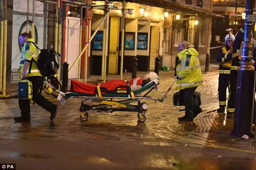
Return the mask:
<path id="1" fill-rule="evenodd" d="M 131 79 L 129 81 L 130 86 L 132 85 L 133 80 L 134 79 Z M 140 79 L 140 80 L 137 82 L 137 85 L 142 84 L 143 79 Z M 116 89 L 116 87 L 118 87 L 118 86 L 127 86 L 127 84 L 124 80 L 111 80 L 106 83 L 100 84 L 100 87 L 105 87 L 108 91 L 114 91 Z M 97 88 L 97 85 L 95 85 L 95 84 L 89 84 L 89 83 L 84 83 L 84 82 L 77 81 L 77 80 L 71 80 L 71 87 L 70 87 L 69 91 L 96 95 L 96 93 L 95 93 L 96 88 Z M 106 93 L 101 92 L 101 94 L 106 94 Z"/>

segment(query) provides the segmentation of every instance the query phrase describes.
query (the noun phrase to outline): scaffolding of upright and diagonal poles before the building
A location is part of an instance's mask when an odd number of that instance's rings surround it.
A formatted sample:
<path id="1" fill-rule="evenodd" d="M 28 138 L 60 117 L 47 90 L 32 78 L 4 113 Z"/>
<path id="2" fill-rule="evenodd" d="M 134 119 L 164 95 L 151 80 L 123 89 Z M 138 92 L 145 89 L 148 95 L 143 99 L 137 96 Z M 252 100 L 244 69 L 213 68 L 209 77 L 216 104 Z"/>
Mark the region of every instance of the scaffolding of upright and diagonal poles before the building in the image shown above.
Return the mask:
<path id="1" fill-rule="evenodd" d="M 61 13 L 59 15 L 59 10 L 61 11 L 62 6 L 59 7 L 60 5 L 60 0 L 27 0 L 27 25 L 26 25 L 26 32 L 29 33 L 29 2 L 32 1 L 32 29 L 31 29 L 31 36 L 32 38 L 34 38 L 35 36 L 35 23 L 34 23 L 34 17 L 35 17 L 35 1 L 38 2 L 42 2 L 42 3 L 52 3 L 52 4 L 56 4 L 56 14 L 55 14 L 55 40 L 54 40 L 54 50 L 61 53 Z M 0 93 L 2 93 L 2 95 L 0 95 L 0 97 L 9 97 L 8 95 L 6 95 L 6 54 L 7 54 L 7 0 L 3 0 L 0 3 L 1 6 L 1 14 L 0 14 L 0 18 L 1 18 L 1 25 L 0 25 Z M 31 3 L 30 3 L 31 4 Z M 85 52 L 85 57 L 84 57 L 84 81 L 86 82 L 87 80 L 87 58 L 88 58 L 88 53 L 87 53 L 87 48 L 89 46 L 89 43 L 91 43 L 92 39 L 94 38 L 94 36 L 96 35 L 96 33 L 98 32 L 100 26 L 102 25 L 103 21 L 105 21 L 105 31 L 103 34 L 107 34 L 108 30 L 107 30 L 107 16 L 110 12 L 110 10 L 120 10 L 117 7 L 115 7 L 110 1 L 105 0 L 105 4 L 104 5 L 97 5 L 96 3 L 89 3 L 89 0 L 86 0 L 86 3 L 80 3 L 80 2 L 73 2 L 73 1 L 68 1 L 68 0 L 61 0 L 61 4 L 63 5 L 67 5 L 67 6 L 76 6 L 76 7 L 80 7 L 80 19 L 81 19 L 81 24 L 80 24 L 80 30 L 79 30 L 79 55 L 76 58 L 75 62 L 72 64 L 72 66 L 69 68 L 68 73 L 70 73 L 70 71 L 73 69 L 73 67 L 75 66 L 75 64 L 79 61 L 79 68 L 78 68 L 78 80 L 80 80 L 80 72 L 81 72 L 81 56 L 84 54 Z M 83 23 L 83 18 L 82 18 L 82 12 L 85 8 L 86 10 L 86 27 L 85 27 L 85 47 L 82 49 L 82 23 Z M 99 26 L 97 27 L 97 29 L 94 31 L 94 33 L 92 34 L 92 36 L 90 37 L 90 39 L 88 40 L 88 11 L 89 9 L 100 9 L 104 11 L 104 18 L 102 19 L 102 21 L 100 22 Z M 123 18 L 124 18 L 124 4 L 123 4 Z M 124 19 L 123 19 L 124 20 Z M 123 29 L 122 29 L 123 32 Z M 122 34 L 122 42 L 124 41 L 124 37 L 123 37 L 124 33 Z M 103 41 L 106 41 L 107 39 L 103 39 Z M 122 43 L 123 45 L 123 43 Z M 106 46 L 106 45 L 105 45 Z M 121 68 L 123 68 L 123 48 L 121 49 Z M 102 55 L 102 63 L 103 63 L 103 75 L 102 78 L 104 79 L 103 81 L 106 82 L 106 52 L 107 52 L 107 46 L 105 47 L 105 49 L 102 50 L 102 52 L 105 51 L 104 55 Z M 122 70 L 121 70 L 121 79 L 122 79 Z M 59 73 L 58 76 L 60 78 L 60 69 L 59 69 Z"/>

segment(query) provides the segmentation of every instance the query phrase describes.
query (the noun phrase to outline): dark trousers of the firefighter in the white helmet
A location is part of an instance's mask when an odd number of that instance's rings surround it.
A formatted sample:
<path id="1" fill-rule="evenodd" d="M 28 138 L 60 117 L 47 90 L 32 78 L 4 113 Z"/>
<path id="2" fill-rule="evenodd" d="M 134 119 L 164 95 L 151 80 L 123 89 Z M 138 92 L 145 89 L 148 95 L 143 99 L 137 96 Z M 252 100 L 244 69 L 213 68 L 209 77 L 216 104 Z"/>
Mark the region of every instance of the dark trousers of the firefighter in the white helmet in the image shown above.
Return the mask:
<path id="1" fill-rule="evenodd" d="M 229 76 L 230 76 L 230 74 L 220 74 L 219 75 L 218 95 L 219 95 L 220 107 L 226 106 L 227 88 L 228 88 L 228 92 L 230 93 L 230 89 L 229 89 L 229 85 L 228 85 Z"/>

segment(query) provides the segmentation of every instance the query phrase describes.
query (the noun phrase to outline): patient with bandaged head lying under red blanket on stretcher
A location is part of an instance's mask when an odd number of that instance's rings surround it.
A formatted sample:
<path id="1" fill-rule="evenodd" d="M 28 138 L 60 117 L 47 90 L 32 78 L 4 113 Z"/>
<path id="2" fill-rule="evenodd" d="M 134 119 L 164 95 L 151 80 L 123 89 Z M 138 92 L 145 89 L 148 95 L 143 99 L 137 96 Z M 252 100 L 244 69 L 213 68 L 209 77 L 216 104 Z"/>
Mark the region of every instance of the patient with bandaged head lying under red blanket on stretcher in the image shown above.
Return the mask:
<path id="1" fill-rule="evenodd" d="M 154 72 L 150 72 L 146 74 L 143 78 L 134 78 L 129 81 L 125 80 L 111 80 L 106 83 L 100 83 L 98 85 L 84 83 L 77 80 L 71 80 L 71 87 L 70 92 L 77 92 L 77 93 L 84 93 L 84 94 L 91 94 L 96 95 L 97 88 L 100 88 L 101 94 L 106 94 L 108 92 L 114 92 L 116 91 L 117 87 L 118 90 L 127 90 L 127 88 L 131 88 L 130 91 L 136 91 L 148 84 L 149 82 L 154 81 L 155 84 L 158 84 L 158 75 Z M 156 90 L 159 91 L 159 89 L 156 87 Z M 118 92 L 120 93 L 120 92 Z"/>

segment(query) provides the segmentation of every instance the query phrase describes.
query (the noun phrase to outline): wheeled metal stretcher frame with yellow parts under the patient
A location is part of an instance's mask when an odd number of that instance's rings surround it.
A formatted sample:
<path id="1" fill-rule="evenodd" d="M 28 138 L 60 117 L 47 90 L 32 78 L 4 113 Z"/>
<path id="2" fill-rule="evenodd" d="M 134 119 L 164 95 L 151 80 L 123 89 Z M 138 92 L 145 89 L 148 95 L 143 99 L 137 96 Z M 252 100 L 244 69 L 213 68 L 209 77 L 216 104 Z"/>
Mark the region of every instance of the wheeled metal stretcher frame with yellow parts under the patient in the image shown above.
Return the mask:
<path id="1" fill-rule="evenodd" d="M 170 92 L 172 89 L 172 86 L 174 85 L 175 81 L 172 82 L 171 86 L 169 89 L 166 91 L 164 96 L 161 99 L 158 99 L 156 97 L 150 97 L 147 96 L 153 89 L 156 88 L 160 83 L 157 83 L 153 86 L 151 86 L 148 89 L 145 89 L 141 91 L 140 93 L 135 94 L 134 96 L 128 96 L 128 97 L 99 97 L 99 96 L 71 96 L 71 97 L 66 97 L 67 93 L 63 93 L 60 90 L 54 88 L 49 82 L 44 81 L 44 83 L 48 86 L 50 86 L 52 89 L 57 91 L 59 93 L 58 100 L 60 100 L 60 104 L 64 105 L 65 101 L 68 98 L 80 98 L 82 100 L 81 106 L 79 108 L 80 113 L 80 120 L 86 121 L 88 120 L 89 114 L 88 112 L 92 113 L 113 113 L 113 112 L 138 112 L 137 117 L 139 122 L 145 122 L 146 121 L 146 112 L 148 109 L 148 104 L 144 100 L 154 100 L 163 102 L 164 99 L 166 98 L 167 94 Z M 144 93 L 148 91 L 146 94 L 143 96 L 140 96 L 141 93 Z M 115 99 L 123 99 L 123 100 L 115 100 Z M 97 105 L 89 105 L 89 104 L 84 104 L 84 102 L 94 102 L 94 103 L 99 103 Z M 137 105 L 131 104 L 133 102 L 137 102 Z"/>

